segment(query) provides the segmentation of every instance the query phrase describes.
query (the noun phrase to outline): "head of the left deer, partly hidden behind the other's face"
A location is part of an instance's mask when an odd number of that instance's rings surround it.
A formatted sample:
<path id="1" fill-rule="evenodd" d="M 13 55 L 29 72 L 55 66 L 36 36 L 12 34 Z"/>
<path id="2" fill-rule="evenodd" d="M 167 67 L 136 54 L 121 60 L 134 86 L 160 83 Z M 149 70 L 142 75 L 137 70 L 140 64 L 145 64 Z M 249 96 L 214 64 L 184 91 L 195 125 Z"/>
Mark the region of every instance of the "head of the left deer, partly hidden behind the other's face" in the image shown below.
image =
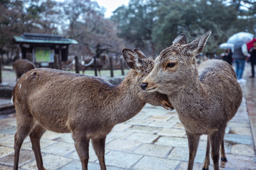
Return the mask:
<path id="1" fill-rule="evenodd" d="M 160 94 L 154 92 L 152 94 L 140 88 L 140 82 L 146 78 L 154 67 L 154 60 L 149 59 L 144 53 L 138 49 L 130 50 L 125 48 L 122 50 L 125 62 L 132 69 L 132 74 L 127 75 L 129 79 L 132 79 L 132 86 L 135 86 L 135 91 L 139 95 L 139 98 L 146 103 L 150 103 L 154 106 L 162 106 L 168 110 L 173 110 L 174 107 L 169 102 L 166 94 Z"/>

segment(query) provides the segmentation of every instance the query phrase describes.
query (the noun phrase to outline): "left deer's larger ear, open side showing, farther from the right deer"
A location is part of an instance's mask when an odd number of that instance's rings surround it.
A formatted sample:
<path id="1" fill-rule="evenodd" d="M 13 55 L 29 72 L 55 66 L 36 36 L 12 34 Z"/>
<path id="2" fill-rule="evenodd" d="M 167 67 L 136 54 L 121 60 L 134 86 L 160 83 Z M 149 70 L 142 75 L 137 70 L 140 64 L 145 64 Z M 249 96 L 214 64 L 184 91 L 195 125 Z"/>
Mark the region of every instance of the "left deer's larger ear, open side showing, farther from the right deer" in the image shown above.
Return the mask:
<path id="1" fill-rule="evenodd" d="M 122 55 L 124 56 L 124 60 L 125 62 L 127 62 L 127 65 L 131 68 L 131 69 L 136 69 L 137 71 L 139 71 L 142 67 L 142 60 L 139 57 L 139 55 L 137 55 L 136 52 L 128 49 L 128 48 L 124 48 L 122 50 Z"/>

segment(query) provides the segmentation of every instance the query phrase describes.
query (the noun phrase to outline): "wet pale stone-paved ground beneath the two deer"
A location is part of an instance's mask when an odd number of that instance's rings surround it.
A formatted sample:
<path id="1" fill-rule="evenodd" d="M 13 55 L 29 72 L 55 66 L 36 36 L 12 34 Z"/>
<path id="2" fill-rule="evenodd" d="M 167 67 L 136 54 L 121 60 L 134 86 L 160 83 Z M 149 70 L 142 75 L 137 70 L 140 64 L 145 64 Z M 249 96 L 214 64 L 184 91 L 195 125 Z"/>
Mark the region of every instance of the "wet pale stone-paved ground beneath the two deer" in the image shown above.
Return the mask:
<path id="1" fill-rule="evenodd" d="M 256 79 L 249 76 L 247 64 L 244 74 L 247 83 L 241 84 L 242 104 L 225 131 L 228 162 L 220 162 L 221 169 L 256 169 Z M 15 132 L 15 113 L 0 115 L 0 169 L 13 169 Z M 202 168 L 206 139 L 206 135 L 201 136 L 194 169 Z M 46 169 L 81 169 L 70 134 L 47 131 L 41 139 L 41 151 Z M 134 118 L 116 125 L 107 135 L 105 161 L 109 170 L 186 169 L 188 142 L 176 111 L 147 104 Z M 28 137 L 21 147 L 19 167 L 37 169 Z M 100 169 L 91 144 L 88 169 Z M 213 169 L 212 162 L 210 169 Z"/>

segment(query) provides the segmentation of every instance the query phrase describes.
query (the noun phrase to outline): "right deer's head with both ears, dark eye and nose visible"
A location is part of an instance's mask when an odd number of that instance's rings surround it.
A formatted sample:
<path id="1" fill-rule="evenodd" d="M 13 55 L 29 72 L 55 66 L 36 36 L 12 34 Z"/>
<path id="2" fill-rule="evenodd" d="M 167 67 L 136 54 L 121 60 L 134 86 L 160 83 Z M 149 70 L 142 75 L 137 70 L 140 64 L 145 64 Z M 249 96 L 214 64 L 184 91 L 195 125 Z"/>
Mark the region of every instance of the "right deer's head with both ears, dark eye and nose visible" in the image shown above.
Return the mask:
<path id="1" fill-rule="evenodd" d="M 166 47 L 156 58 L 154 69 L 142 81 L 142 89 L 163 94 L 182 90 L 197 77 L 196 55 L 203 51 L 210 33 L 208 31 L 190 43 L 187 43 L 185 34 L 178 35 L 173 45 Z"/>

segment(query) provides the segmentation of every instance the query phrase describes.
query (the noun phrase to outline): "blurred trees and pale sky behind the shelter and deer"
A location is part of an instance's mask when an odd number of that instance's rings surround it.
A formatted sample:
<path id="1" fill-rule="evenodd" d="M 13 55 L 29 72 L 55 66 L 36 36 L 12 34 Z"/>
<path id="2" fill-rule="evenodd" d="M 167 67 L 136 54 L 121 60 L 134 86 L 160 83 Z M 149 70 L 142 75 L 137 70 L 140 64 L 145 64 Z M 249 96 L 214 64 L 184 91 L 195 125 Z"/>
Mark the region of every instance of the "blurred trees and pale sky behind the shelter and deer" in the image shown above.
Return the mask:
<path id="1" fill-rule="evenodd" d="M 254 0 L 120 2 L 121 6 L 115 1 L 100 0 L 1 0 L 1 62 L 9 64 L 18 58 L 21 49 L 14 43 L 14 36 L 23 33 L 74 39 L 78 44 L 70 45 L 69 55 L 78 55 L 80 59 L 96 55 L 99 48 L 108 55 L 120 55 L 123 47 L 137 47 L 146 55 L 156 57 L 180 33 L 186 33 L 189 42 L 212 30 L 204 50 L 210 57 L 223 52 L 218 45 L 234 33 L 256 33 Z M 114 10 L 100 4 L 108 4 Z"/>

